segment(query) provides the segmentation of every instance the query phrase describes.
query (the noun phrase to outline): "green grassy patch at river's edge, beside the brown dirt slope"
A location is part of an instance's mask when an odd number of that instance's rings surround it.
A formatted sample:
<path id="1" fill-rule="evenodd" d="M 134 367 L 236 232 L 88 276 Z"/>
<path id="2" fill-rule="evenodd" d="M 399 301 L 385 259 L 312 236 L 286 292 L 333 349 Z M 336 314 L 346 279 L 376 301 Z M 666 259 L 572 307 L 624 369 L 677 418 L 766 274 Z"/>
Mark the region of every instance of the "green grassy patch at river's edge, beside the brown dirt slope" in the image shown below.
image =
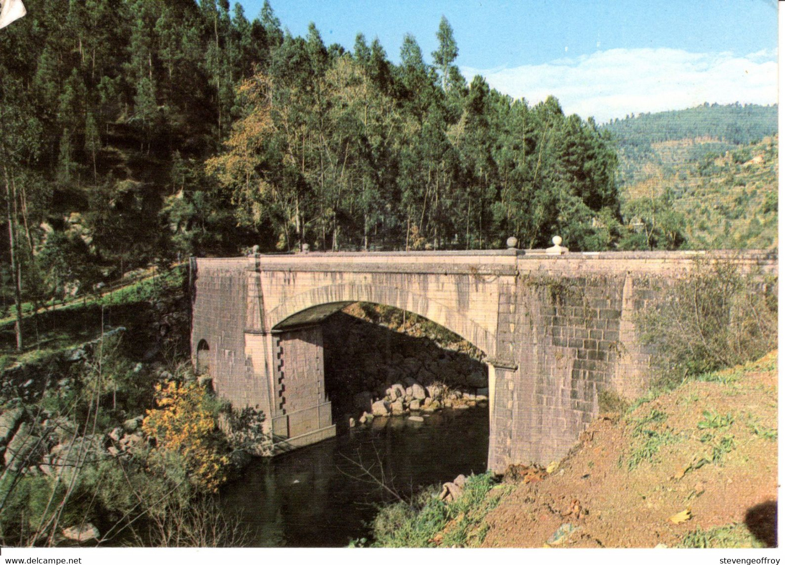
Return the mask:
<path id="1" fill-rule="evenodd" d="M 491 472 L 466 479 L 457 501 L 438 500 L 438 487 L 423 491 L 408 505 L 385 506 L 373 523 L 374 547 L 476 547 L 487 534 L 484 518 L 512 486 L 495 483 Z"/>

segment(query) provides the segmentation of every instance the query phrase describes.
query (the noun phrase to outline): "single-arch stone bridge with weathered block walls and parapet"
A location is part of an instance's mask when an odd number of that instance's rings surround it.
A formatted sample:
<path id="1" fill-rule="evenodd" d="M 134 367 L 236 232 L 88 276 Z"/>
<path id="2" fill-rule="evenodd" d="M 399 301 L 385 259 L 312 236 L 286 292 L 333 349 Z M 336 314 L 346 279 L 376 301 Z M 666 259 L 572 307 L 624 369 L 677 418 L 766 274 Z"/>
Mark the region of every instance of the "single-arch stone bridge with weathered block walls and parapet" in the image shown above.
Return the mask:
<path id="1" fill-rule="evenodd" d="M 276 439 L 334 436 L 319 323 L 352 302 L 422 315 L 476 345 L 488 369 L 488 467 L 563 457 L 601 391 L 633 398 L 651 353 L 633 318 L 696 256 L 776 272 L 761 252 L 545 250 L 298 253 L 192 259 L 192 352 L 217 393 L 257 406 Z"/>

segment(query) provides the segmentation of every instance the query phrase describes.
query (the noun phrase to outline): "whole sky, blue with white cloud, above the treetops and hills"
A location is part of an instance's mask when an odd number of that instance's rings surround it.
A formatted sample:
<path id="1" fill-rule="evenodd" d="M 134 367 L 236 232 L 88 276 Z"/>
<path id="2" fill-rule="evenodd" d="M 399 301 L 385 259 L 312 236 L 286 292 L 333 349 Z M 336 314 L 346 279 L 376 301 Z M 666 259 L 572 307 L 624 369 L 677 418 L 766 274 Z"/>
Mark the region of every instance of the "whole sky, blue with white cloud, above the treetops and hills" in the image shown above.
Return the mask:
<path id="1" fill-rule="evenodd" d="M 263 0 L 243 0 L 246 16 Z M 271 0 L 282 27 L 352 49 L 358 32 L 399 60 L 403 35 L 425 59 L 447 17 L 467 80 L 604 122 L 704 101 L 776 102 L 776 0 Z"/>

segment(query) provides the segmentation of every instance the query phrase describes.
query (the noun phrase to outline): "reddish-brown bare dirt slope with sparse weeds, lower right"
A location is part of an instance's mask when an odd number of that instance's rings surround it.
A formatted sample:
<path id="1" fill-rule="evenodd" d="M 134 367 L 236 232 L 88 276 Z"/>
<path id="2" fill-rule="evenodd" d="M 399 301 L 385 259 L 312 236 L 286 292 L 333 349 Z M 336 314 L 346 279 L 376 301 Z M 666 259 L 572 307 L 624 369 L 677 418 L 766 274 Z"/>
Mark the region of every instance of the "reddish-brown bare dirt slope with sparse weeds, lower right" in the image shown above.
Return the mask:
<path id="1" fill-rule="evenodd" d="M 598 418 L 550 474 L 518 470 L 484 546 L 776 545 L 776 360 Z"/>

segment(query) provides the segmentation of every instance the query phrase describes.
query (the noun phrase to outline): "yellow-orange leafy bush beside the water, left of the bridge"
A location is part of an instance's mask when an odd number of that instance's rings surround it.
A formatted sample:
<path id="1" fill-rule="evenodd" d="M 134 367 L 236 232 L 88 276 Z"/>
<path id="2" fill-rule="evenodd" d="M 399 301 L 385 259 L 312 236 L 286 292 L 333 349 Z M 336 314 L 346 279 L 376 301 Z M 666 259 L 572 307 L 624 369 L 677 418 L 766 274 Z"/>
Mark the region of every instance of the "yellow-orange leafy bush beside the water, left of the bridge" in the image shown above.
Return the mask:
<path id="1" fill-rule="evenodd" d="M 156 449 L 180 454 L 193 485 L 215 491 L 226 480 L 228 457 L 218 454 L 209 396 L 195 383 L 155 385 L 156 410 L 148 410 L 142 430 Z"/>

